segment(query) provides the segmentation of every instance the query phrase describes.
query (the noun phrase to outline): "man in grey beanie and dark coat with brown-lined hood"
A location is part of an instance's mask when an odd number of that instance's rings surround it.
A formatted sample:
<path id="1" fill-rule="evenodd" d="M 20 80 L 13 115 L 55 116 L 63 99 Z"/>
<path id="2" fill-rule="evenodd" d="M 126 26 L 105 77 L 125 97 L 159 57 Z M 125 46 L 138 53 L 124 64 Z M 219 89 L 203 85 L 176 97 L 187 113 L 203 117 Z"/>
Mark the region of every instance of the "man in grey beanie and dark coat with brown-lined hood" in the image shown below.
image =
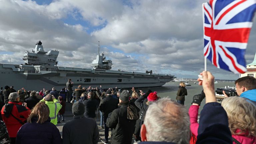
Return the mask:
<path id="1" fill-rule="evenodd" d="M 106 123 L 112 129 L 111 144 L 131 144 L 138 113 L 129 104 L 129 93 L 126 90 L 121 92 L 119 102 L 118 109 L 113 110 Z"/>

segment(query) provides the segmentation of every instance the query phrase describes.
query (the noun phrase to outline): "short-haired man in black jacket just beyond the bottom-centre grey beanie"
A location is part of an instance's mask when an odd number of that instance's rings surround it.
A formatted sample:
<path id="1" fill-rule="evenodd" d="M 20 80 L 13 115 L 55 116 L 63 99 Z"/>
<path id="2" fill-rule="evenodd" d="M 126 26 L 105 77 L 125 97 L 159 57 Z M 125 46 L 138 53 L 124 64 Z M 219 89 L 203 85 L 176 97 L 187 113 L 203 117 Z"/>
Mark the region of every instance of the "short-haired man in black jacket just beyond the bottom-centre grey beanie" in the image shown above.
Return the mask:
<path id="1" fill-rule="evenodd" d="M 97 105 L 99 103 L 98 100 L 93 99 L 94 97 L 94 93 L 93 92 L 89 92 L 87 95 L 87 99 L 83 100 L 83 104 L 84 104 L 84 116 L 87 118 L 95 118 L 96 114 L 95 111 L 97 109 Z"/>

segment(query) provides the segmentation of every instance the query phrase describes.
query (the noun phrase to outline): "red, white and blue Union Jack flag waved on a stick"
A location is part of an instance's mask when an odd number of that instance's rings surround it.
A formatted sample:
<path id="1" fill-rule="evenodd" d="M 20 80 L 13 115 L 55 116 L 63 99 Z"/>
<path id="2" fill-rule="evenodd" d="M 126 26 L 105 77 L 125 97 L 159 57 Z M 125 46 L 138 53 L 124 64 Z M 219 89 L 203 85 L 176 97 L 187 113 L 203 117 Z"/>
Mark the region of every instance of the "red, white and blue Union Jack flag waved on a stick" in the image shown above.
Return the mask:
<path id="1" fill-rule="evenodd" d="M 203 3 L 204 56 L 218 68 L 245 73 L 244 58 L 256 0 Z"/>

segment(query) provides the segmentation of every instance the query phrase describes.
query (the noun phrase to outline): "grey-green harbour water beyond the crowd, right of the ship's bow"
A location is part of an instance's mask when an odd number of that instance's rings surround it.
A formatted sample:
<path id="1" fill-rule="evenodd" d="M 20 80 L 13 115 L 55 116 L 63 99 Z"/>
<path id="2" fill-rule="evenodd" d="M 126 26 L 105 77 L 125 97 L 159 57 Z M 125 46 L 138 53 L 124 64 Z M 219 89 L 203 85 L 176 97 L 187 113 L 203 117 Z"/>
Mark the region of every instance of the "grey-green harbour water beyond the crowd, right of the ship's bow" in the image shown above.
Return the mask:
<path id="1" fill-rule="evenodd" d="M 172 100 L 176 100 L 175 98 L 176 98 L 179 83 L 180 82 L 168 82 L 165 85 L 163 85 L 162 87 L 136 89 L 136 91 L 142 90 L 143 92 L 147 92 L 150 89 L 152 91 L 157 91 L 157 96 L 159 96 L 161 98 L 169 97 Z M 189 109 L 189 107 L 191 105 L 193 96 L 201 93 L 201 91 L 203 90 L 203 87 L 198 85 L 198 82 L 197 82 L 197 84 L 194 84 L 193 81 L 190 81 L 189 84 L 191 84 L 191 86 L 186 86 L 188 95 L 185 96 L 185 108 L 187 110 Z M 234 82 L 219 82 L 217 84 L 214 84 L 214 86 L 215 86 L 215 90 L 216 90 L 217 88 L 222 88 L 225 86 L 229 86 L 229 87 L 234 86 L 235 87 L 235 83 Z M 205 104 L 205 99 L 203 99 L 203 101 L 202 101 L 202 104 L 199 108 L 199 113 L 202 110 L 204 104 Z"/>

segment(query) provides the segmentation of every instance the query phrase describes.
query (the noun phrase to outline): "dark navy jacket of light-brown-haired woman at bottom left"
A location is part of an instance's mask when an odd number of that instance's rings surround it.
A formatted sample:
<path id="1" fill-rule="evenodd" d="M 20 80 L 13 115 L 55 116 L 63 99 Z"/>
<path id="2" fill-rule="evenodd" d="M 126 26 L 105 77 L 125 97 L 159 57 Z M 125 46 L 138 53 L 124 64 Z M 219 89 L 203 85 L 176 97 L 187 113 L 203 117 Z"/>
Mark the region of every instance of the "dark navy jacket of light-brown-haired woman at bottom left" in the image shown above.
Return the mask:
<path id="1" fill-rule="evenodd" d="M 32 123 L 25 123 L 17 133 L 16 144 L 61 144 L 62 139 L 59 129 L 48 118 L 44 123 L 36 123 L 37 118 L 32 118 Z"/>

